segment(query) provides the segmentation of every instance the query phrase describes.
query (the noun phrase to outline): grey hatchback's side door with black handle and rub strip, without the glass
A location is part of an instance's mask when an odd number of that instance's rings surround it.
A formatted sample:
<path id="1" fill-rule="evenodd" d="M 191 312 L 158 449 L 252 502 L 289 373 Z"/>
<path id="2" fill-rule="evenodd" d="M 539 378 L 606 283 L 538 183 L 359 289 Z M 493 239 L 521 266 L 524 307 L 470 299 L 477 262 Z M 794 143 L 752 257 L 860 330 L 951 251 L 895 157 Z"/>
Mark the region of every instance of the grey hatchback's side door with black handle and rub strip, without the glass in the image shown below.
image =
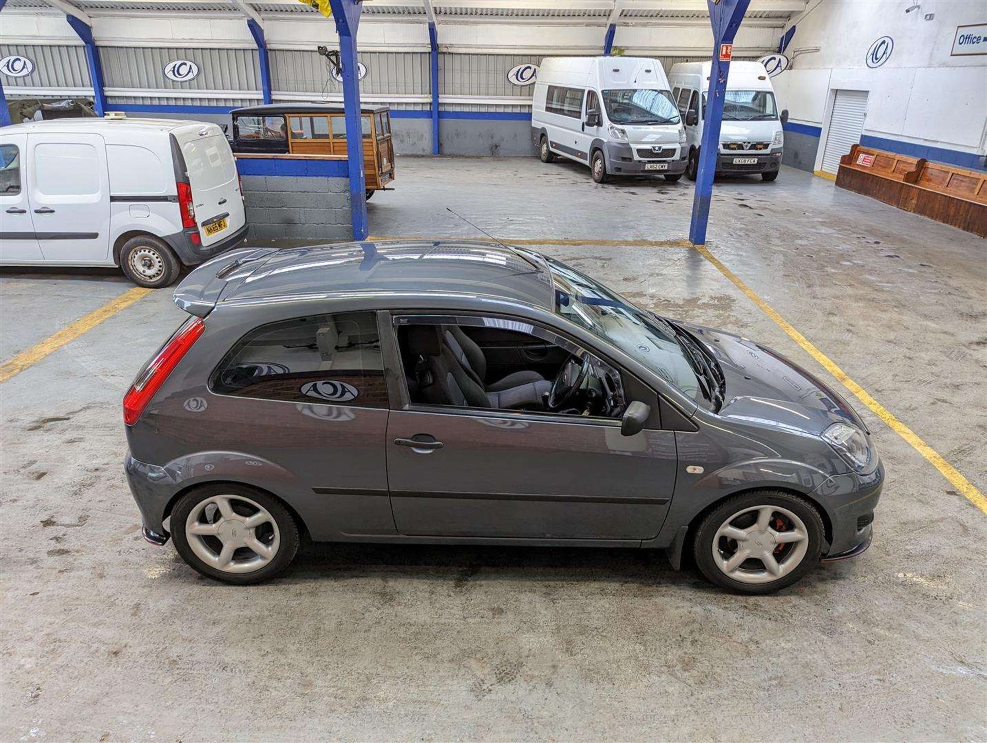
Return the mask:
<path id="1" fill-rule="evenodd" d="M 516 320 L 482 320 L 518 328 Z M 408 346 L 399 346 L 404 368 L 415 368 Z M 633 387 L 637 397 L 653 395 L 640 382 Z M 391 411 L 387 427 L 388 483 L 400 533 L 644 540 L 660 529 L 675 486 L 672 431 L 652 423 L 623 436 L 617 419 L 428 406 L 414 402 L 408 390 L 407 403 Z M 656 412 L 656 397 L 647 404 Z"/>

